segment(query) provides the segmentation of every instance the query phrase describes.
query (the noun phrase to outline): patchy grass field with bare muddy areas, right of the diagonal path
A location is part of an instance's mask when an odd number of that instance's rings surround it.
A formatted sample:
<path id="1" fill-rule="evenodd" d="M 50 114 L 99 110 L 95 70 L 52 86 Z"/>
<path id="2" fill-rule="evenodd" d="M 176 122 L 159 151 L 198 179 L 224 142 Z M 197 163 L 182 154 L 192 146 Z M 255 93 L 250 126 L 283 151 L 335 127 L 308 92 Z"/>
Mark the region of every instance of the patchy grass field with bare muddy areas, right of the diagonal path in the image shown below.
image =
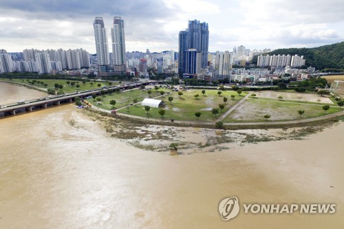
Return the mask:
<path id="1" fill-rule="evenodd" d="M 325 113 L 323 105 L 319 104 L 314 105 L 308 102 L 286 102 L 250 98 L 224 118 L 224 122 L 264 122 L 264 115 L 266 114 L 271 116 L 268 120 L 297 120 L 300 117 L 299 110 L 305 111 L 301 116 L 302 119 L 324 116 L 325 114 L 341 111 L 339 107 L 330 107 Z"/>

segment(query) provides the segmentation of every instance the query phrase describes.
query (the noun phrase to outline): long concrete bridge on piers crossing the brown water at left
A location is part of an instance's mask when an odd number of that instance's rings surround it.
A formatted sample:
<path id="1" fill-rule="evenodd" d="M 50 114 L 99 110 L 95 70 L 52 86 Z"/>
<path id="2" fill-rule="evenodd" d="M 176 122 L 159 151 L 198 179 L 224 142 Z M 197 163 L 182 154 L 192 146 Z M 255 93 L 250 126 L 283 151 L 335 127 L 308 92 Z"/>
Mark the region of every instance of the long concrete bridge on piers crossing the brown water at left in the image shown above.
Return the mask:
<path id="1" fill-rule="evenodd" d="M 129 89 L 129 87 L 141 87 L 141 85 L 149 85 L 152 83 L 160 83 L 155 80 L 149 80 L 144 82 L 136 82 L 136 83 L 127 83 L 122 85 L 114 85 L 111 87 L 101 87 L 97 89 L 87 90 L 87 91 L 77 91 L 72 94 L 64 94 L 64 95 L 56 95 L 56 96 L 48 96 L 45 98 L 39 98 L 37 100 L 29 100 L 29 101 L 19 101 L 12 105 L 6 105 L 0 107 L 0 118 L 4 116 L 11 116 L 16 115 L 17 113 L 25 113 L 28 111 L 35 111 L 38 109 L 46 109 L 47 107 L 58 106 L 61 103 L 69 103 L 73 102 L 74 98 L 79 97 L 81 99 L 92 96 L 93 94 L 100 95 L 101 91 L 104 90 L 105 92 L 109 90 L 114 90 L 119 88 L 120 90 Z"/>

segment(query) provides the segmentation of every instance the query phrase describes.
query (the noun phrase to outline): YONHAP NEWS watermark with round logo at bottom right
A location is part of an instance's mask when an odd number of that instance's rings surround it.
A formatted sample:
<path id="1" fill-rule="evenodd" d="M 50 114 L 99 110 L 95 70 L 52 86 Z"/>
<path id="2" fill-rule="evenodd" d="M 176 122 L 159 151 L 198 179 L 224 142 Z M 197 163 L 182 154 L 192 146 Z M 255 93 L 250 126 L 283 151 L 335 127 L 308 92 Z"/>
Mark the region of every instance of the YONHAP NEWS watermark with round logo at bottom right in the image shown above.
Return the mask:
<path id="1" fill-rule="evenodd" d="M 237 197 L 228 197 L 219 202 L 219 214 L 228 221 L 244 214 L 334 214 L 336 204 L 239 204 Z"/>

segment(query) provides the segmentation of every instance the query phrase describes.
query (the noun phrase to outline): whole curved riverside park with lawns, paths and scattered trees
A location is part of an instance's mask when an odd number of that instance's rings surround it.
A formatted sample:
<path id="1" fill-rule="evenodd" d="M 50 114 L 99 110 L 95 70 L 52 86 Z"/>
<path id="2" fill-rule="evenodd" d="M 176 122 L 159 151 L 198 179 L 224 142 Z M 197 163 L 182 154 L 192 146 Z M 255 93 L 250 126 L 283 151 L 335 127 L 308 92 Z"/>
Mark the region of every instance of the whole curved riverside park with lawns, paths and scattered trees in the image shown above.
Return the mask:
<path id="1" fill-rule="evenodd" d="M 141 105 L 144 98 L 162 100 L 164 107 Z M 111 100 L 116 101 L 116 103 Z M 166 87 L 131 89 L 87 98 L 95 108 L 119 115 L 180 122 L 271 122 L 316 118 L 342 111 L 333 96 L 294 91 L 221 91 Z M 162 111 L 163 110 L 163 111 Z M 197 117 L 198 116 L 198 117 Z"/>

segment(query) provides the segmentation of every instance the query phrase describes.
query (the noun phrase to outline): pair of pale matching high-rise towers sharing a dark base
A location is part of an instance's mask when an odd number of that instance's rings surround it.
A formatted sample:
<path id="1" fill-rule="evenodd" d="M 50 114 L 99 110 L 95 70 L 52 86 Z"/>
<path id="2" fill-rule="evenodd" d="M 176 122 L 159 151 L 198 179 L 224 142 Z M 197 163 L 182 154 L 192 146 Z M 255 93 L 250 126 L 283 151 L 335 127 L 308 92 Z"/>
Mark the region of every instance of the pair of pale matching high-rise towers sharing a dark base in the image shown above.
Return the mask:
<path id="1" fill-rule="evenodd" d="M 109 69 L 109 45 L 107 41 L 107 31 L 105 29 L 103 17 L 94 19 L 94 38 L 96 41 L 96 53 L 98 60 L 98 72 L 100 76 L 111 74 L 125 74 L 127 70 L 125 57 L 125 26 L 121 17 L 114 17 L 111 27 L 112 53 L 114 55 L 114 68 Z"/>

